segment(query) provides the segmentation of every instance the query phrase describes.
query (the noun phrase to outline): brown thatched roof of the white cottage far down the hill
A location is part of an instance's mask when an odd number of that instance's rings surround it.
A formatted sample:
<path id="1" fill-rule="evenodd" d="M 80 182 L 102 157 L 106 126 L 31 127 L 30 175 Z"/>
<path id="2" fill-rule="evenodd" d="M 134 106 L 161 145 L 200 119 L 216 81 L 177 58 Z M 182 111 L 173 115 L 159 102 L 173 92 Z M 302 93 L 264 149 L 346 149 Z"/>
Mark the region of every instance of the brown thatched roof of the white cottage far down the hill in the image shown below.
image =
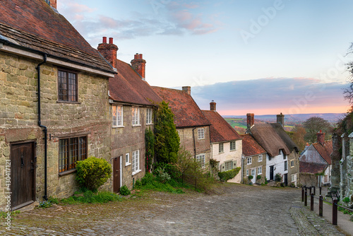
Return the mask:
<path id="1" fill-rule="evenodd" d="M 251 134 L 271 157 L 279 155 L 280 150 L 282 150 L 285 155 L 291 153 L 285 141 L 277 134 L 277 129 L 271 124 L 255 124 L 251 128 Z"/>

